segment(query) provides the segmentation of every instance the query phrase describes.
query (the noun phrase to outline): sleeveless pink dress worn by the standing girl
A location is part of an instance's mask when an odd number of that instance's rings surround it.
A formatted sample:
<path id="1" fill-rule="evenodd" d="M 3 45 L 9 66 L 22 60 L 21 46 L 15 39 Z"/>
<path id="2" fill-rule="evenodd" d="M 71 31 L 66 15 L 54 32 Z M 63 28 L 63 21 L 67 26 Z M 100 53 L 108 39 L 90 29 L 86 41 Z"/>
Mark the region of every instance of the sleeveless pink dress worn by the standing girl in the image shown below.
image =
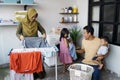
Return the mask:
<path id="1" fill-rule="evenodd" d="M 72 58 L 70 56 L 70 52 L 68 47 L 65 45 L 64 39 L 61 38 L 60 42 L 60 53 L 59 53 L 60 61 L 64 64 L 72 63 Z"/>

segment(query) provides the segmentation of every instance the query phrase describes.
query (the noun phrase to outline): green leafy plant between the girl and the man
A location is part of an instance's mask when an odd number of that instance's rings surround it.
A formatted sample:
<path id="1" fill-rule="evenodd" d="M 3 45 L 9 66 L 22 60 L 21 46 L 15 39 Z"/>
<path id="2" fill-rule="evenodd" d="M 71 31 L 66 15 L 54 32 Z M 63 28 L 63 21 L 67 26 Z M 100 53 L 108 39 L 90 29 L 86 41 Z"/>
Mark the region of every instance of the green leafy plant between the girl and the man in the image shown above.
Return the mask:
<path id="1" fill-rule="evenodd" d="M 81 37 L 81 29 L 80 29 L 79 26 L 73 26 L 70 29 L 70 37 L 72 38 L 72 41 L 76 46 L 77 45 L 77 39 Z"/>

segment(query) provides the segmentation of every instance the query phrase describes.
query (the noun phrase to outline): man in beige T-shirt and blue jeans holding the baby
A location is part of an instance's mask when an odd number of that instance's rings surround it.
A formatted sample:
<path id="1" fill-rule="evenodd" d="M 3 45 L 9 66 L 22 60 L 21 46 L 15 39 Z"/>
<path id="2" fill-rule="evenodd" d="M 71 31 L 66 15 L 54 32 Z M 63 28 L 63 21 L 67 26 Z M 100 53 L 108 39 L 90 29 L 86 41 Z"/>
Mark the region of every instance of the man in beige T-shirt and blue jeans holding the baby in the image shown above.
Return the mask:
<path id="1" fill-rule="evenodd" d="M 76 50 L 77 53 L 85 53 L 85 57 L 82 61 L 84 64 L 91 65 L 94 68 L 92 80 L 99 80 L 100 69 L 99 66 L 93 62 L 92 58 L 96 55 L 100 47 L 100 39 L 93 36 L 94 29 L 92 26 L 85 26 L 83 28 L 82 48 Z"/>

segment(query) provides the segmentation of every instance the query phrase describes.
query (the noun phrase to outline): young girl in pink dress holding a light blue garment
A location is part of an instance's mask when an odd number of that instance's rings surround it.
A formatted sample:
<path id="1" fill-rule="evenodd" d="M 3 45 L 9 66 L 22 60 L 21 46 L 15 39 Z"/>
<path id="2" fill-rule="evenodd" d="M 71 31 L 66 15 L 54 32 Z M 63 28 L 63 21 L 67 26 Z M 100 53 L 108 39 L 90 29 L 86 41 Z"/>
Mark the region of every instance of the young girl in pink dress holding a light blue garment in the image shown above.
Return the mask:
<path id="1" fill-rule="evenodd" d="M 69 31 L 67 28 L 63 28 L 61 30 L 61 35 L 60 35 L 60 61 L 64 65 L 64 70 L 63 72 L 66 71 L 66 64 L 71 64 L 72 59 L 76 60 L 76 52 L 75 52 L 75 46 L 69 42 L 67 39 L 69 35 Z"/>

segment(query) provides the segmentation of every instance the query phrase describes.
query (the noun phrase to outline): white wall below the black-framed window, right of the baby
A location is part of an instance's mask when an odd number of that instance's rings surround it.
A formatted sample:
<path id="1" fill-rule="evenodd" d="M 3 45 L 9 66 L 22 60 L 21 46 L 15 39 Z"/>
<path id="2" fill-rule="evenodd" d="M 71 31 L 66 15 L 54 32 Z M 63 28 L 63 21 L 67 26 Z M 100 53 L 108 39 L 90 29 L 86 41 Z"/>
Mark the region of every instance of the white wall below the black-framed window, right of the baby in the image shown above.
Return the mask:
<path id="1" fill-rule="evenodd" d="M 110 54 L 106 58 L 106 66 L 120 77 L 120 46 L 110 45 Z"/>

